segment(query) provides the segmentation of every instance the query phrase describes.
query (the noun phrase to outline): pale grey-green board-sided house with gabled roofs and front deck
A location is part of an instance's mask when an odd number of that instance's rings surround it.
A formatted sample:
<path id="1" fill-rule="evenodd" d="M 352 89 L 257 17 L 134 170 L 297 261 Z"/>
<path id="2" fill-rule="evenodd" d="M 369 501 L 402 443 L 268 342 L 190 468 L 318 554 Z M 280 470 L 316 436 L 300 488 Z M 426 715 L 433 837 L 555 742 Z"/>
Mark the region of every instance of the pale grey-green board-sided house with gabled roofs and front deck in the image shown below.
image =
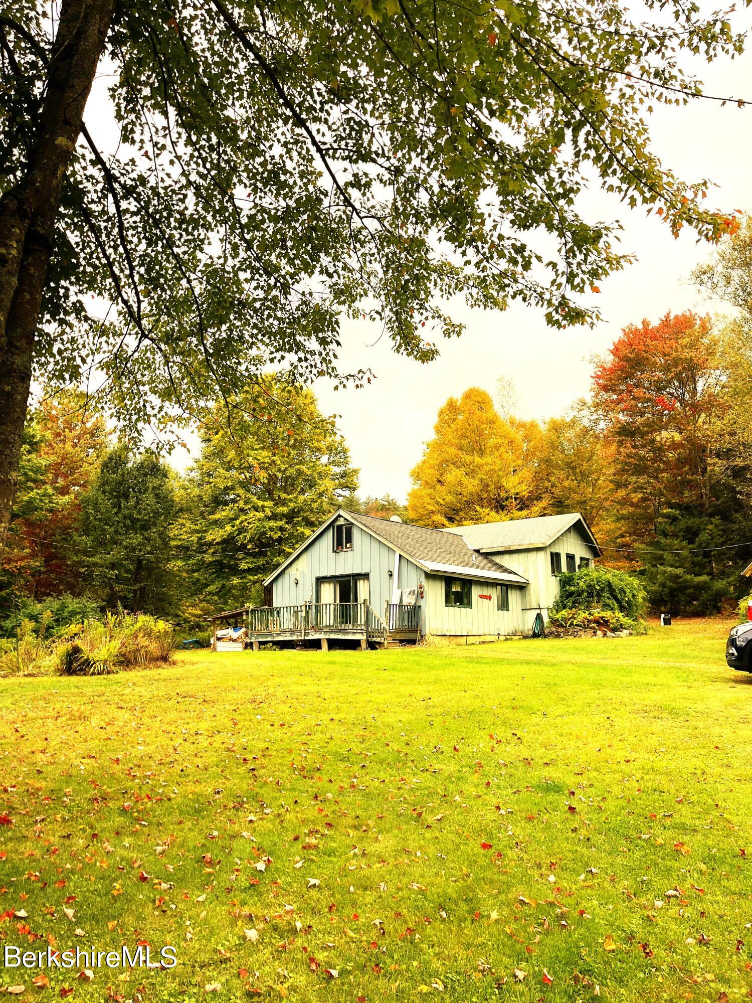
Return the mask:
<path id="1" fill-rule="evenodd" d="M 600 553 L 579 513 L 430 530 L 341 509 L 266 580 L 265 606 L 246 611 L 248 639 L 367 647 L 529 634 L 559 572 Z"/>

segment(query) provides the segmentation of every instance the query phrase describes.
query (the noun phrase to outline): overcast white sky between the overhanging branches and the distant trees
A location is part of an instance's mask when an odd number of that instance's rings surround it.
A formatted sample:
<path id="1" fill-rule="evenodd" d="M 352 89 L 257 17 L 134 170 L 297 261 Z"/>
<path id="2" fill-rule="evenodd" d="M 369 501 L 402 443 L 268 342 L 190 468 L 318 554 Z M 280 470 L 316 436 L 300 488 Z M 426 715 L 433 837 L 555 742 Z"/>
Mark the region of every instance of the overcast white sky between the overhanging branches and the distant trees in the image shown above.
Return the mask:
<path id="1" fill-rule="evenodd" d="M 745 24 L 750 23 L 745 15 Z M 737 19 L 735 27 L 741 26 Z M 705 81 L 706 93 L 752 99 L 752 52 L 734 60 L 703 62 L 695 71 Z M 87 122 L 100 134 L 112 125 L 108 82 L 102 73 L 86 113 Z M 654 148 L 667 166 L 686 180 L 704 177 L 717 185 L 709 192 L 709 204 L 724 211 L 752 211 L 752 107 L 739 108 L 733 102 L 721 107 L 705 100 L 684 108 L 659 106 L 652 116 L 652 133 Z M 556 331 L 532 308 L 515 305 L 504 313 L 490 313 L 457 302 L 451 312 L 465 323 L 464 335 L 440 345 L 439 359 L 420 365 L 393 354 L 388 338 L 379 339 L 375 326 L 344 322 L 342 370 L 367 367 L 377 379 L 362 390 L 334 392 L 323 380 L 315 389 L 322 410 L 340 416 L 339 428 L 361 471 L 362 494 L 388 491 L 406 496 L 410 470 L 431 438 L 438 408 L 450 395 L 473 385 L 492 392 L 499 376 L 510 377 L 520 416 L 544 419 L 588 392 L 590 360 L 608 349 L 624 325 L 644 317 L 655 320 L 668 310 L 718 308 L 701 300 L 688 282 L 692 268 L 711 253 L 709 245 L 696 243 L 688 228 L 675 241 L 657 217 L 630 211 L 596 187 L 581 207 L 588 219 L 619 219 L 624 226 L 622 248 L 638 258 L 600 284 L 604 320 L 595 329 Z M 190 445 L 195 442 L 189 438 Z M 183 468 L 191 458 L 179 450 L 171 462 Z"/>

